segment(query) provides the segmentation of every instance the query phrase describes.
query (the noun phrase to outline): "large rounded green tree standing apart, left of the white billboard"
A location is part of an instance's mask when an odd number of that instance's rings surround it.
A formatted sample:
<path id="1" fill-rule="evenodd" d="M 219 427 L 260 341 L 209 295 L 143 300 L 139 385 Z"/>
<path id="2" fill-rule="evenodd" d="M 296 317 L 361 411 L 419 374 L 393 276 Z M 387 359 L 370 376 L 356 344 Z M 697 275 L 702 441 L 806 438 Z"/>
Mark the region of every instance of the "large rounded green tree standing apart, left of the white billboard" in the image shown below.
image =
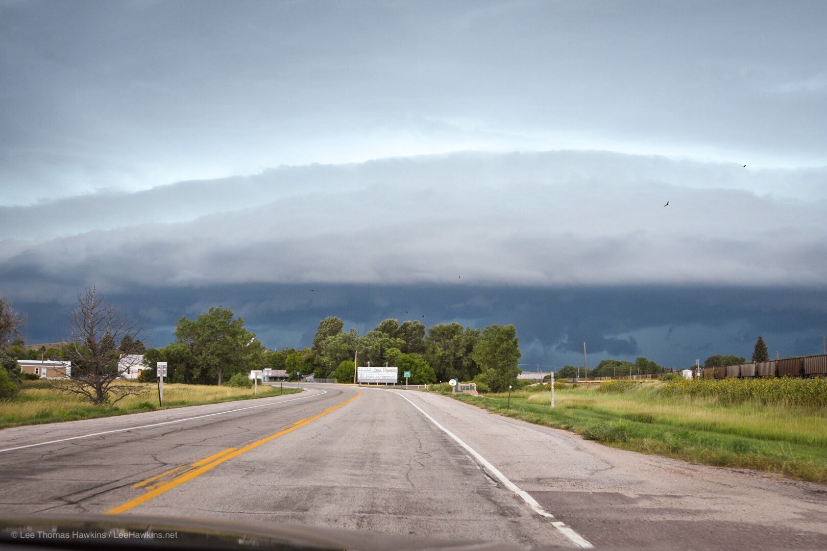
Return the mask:
<path id="1" fill-rule="evenodd" d="M 189 347 L 200 382 L 220 385 L 224 374 L 249 371 L 261 364 L 264 349 L 256 334 L 244 327 L 244 319 L 233 319 L 229 308 L 210 308 L 195 320 L 182 317 L 175 324 L 176 342 Z"/>

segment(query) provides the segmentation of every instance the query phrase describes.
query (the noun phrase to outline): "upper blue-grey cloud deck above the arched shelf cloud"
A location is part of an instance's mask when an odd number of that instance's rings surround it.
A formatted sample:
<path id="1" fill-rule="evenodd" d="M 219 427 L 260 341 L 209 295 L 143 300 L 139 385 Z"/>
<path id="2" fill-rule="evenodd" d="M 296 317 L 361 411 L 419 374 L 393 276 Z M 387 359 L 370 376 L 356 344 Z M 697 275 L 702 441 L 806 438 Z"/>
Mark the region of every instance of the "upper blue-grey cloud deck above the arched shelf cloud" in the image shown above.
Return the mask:
<path id="1" fill-rule="evenodd" d="M 11 2 L 0 203 L 452 150 L 824 165 L 821 2 Z"/>

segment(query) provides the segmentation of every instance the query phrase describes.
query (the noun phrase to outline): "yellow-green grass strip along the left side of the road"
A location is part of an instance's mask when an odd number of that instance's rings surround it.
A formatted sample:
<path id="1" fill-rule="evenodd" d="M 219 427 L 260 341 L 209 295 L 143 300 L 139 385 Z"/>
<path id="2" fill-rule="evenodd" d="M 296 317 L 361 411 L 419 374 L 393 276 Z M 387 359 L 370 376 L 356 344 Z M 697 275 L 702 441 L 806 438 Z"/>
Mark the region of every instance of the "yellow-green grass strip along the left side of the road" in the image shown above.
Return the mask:
<path id="1" fill-rule="evenodd" d="M 148 383 L 147 387 L 150 392 L 141 396 L 125 397 L 114 406 L 92 406 L 80 400 L 79 397 L 58 392 L 48 383 L 24 382 L 20 393 L 14 400 L 0 401 L 0 429 L 20 425 L 122 416 L 128 413 L 160 409 L 157 387 L 151 383 Z M 163 409 L 301 392 L 298 388 L 285 387 L 282 391 L 279 387 L 266 385 L 260 385 L 258 391 L 258 395 L 254 395 L 251 388 L 165 383 Z"/>

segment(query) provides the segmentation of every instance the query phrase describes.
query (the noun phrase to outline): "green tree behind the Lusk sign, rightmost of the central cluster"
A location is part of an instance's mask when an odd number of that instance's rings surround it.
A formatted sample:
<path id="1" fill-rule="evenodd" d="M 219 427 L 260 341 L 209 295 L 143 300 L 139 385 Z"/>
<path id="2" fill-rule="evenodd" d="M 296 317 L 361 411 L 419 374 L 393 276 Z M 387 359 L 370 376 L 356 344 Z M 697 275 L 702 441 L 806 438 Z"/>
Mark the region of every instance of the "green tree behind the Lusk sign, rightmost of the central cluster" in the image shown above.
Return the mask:
<path id="1" fill-rule="evenodd" d="M 474 361 L 480 366 L 476 381 L 482 382 L 492 392 L 508 390 L 517 383 L 520 373 L 519 339 L 514 325 L 489 325 L 476 341 Z"/>

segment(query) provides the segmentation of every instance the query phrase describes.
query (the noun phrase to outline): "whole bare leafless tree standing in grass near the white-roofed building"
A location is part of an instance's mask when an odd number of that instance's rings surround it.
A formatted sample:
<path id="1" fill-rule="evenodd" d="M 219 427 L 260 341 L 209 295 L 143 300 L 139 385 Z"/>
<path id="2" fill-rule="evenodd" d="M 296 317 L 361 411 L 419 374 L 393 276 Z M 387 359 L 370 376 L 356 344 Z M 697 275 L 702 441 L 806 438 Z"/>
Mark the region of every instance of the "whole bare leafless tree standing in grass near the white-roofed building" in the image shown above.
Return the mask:
<path id="1" fill-rule="evenodd" d="M 123 397 L 149 392 L 146 385 L 124 378 L 141 361 L 134 355 L 138 354 L 136 340 L 141 333 L 136 325 L 121 306 L 106 302 L 98 287 L 88 287 L 79 294 L 69 313 L 69 338 L 60 339 L 66 354 L 62 371 L 68 377 L 57 388 L 95 405 L 114 404 Z"/>

